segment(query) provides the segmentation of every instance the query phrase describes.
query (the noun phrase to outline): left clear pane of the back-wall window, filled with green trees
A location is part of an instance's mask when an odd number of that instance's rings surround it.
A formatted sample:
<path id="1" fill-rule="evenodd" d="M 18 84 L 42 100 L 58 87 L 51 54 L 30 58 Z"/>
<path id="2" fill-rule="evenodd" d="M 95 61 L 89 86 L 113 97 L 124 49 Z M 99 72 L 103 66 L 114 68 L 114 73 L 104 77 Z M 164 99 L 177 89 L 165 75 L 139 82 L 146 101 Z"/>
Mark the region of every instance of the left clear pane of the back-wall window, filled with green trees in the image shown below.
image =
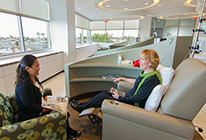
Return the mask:
<path id="1" fill-rule="evenodd" d="M 105 30 L 91 31 L 92 42 L 105 42 Z"/>

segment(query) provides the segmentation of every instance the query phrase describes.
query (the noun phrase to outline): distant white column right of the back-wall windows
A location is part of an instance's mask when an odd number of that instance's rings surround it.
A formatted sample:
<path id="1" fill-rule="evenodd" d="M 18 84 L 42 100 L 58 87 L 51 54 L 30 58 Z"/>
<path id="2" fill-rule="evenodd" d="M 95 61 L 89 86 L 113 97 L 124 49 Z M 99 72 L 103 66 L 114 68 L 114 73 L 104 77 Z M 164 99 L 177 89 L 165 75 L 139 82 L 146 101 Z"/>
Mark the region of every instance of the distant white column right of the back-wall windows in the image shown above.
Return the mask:
<path id="1" fill-rule="evenodd" d="M 143 41 L 150 37 L 150 30 L 151 30 L 151 23 L 152 18 L 151 17 L 145 17 L 144 19 L 141 19 L 139 22 L 139 33 L 140 33 L 140 41 Z"/>

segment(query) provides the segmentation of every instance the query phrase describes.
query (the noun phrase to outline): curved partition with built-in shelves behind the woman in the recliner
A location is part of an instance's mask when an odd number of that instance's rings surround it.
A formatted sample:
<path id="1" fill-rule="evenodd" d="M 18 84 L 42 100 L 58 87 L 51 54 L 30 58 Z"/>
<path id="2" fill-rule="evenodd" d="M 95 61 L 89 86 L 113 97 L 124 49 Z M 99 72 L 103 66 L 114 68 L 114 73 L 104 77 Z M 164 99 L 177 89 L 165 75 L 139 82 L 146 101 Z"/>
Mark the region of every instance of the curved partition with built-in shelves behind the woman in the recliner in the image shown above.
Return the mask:
<path id="1" fill-rule="evenodd" d="M 192 37 L 171 37 L 165 41 L 147 45 L 140 48 L 132 48 L 110 54 L 94 56 L 81 61 L 72 62 L 64 66 L 66 80 L 66 94 L 69 97 L 81 95 L 83 93 L 108 90 L 109 87 L 116 85 L 113 80 L 104 80 L 104 75 L 123 75 L 125 77 L 136 78 L 141 69 L 132 65 L 118 65 L 118 54 L 121 54 L 124 60 L 137 60 L 143 49 L 154 49 L 160 56 L 161 64 L 167 67 L 173 67 L 174 56 L 177 53 L 176 48 L 191 45 Z M 182 49 L 180 49 L 182 51 Z M 183 55 L 176 56 L 178 59 L 184 58 L 188 52 L 185 49 Z M 177 65 L 180 62 L 175 62 Z"/>

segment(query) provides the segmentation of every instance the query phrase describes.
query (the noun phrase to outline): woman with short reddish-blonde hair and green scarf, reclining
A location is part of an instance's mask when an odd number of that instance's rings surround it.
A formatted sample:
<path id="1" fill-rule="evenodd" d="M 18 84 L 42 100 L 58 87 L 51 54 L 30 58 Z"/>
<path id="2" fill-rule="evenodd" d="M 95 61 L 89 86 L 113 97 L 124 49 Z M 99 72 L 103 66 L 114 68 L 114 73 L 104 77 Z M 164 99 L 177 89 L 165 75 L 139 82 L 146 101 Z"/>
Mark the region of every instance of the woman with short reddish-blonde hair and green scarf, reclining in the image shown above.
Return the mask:
<path id="1" fill-rule="evenodd" d="M 101 107 L 101 104 L 105 99 L 111 99 L 144 108 L 147 98 L 153 88 L 156 85 L 161 84 L 161 76 L 156 70 L 159 65 L 159 55 L 154 50 L 145 49 L 140 54 L 139 62 L 142 71 L 136 80 L 120 77 L 113 81 L 115 84 L 119 81 L 125 81 L 134 85 L 133 88 L 125 94 L 125 97 L 119 96 L 115 92 L 111 93 L 103 91 L 85 103 L 79 103 L 75 100 L 70 101 L 71 107 L 80 113 L 87 108 Z"/>

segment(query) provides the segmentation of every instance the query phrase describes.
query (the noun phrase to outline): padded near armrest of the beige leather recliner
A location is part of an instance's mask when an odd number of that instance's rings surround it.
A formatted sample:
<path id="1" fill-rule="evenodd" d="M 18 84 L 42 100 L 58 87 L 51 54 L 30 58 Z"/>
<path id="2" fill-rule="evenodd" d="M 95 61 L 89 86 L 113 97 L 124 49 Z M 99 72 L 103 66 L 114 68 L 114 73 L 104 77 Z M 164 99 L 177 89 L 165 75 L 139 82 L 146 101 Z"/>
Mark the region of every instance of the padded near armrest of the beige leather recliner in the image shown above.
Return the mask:
<path id="1" fill-rule="evenodd" d="M 157 133 L 161 132 L 161 133 L 165 133 L 165 135 L 168 135 L 169 133 L 170 135 L 172 134 L 178 137 L 184 137 L 184 138 L 189 138 L 189 139 L 193 138 L 194 127 L 193 127 L 192 122 L 190 121 L 175 118 L 175 117 L 164 115 L 164 114 L 159 114 L 157 112 L 150 112 L 145 109 L 138 108 L 138 107 L 128 105 L 125 103 L 121 103 L 121 102 L 119 102 L 119 104 L 116 104 L 116 105 L 112 104 L 111 102 L 113 101 L 104 100 L 102 104 L 103 135 L 104 135 L 105 129 L 112 129 L 111 126 L 120 124 L 120 122 L 118 121 L 122 120 L 124 123 L 128 122 L 127 124 L 124 124 L 124 126 L 127 125 L 127 132 L 129 134 L 131 134 L 131 131 L 128 130 L 130 128 L 129 125 L 131 125 L 132 129 L 134 129 L 134 127 L 141 128 L 140 130 L 136 130 L 137 132 L 135 131 L 134 135 L 138 135 L 138 137 L 140 137 L 140 135 L 155 135 L 153 132 L 157 132 Z M 110 120 L 108 120 L 107 117 L 110 119 L 113 118 L 114 120 L 110 122 Z M 107 128 L 107 126 L 109 127 Z M 117 129 L 121 131 L 120 126 L 118 126 Z M 143 129 L 151 131 L 152 133 L 147 134 L 149 133 L 148 131 L 141 132 L 141 130 Z M 107 130 L 105 132 L 110 133 Z M 114 132 L 111 131 L 111 133 L 114 133 Z M 124 134 L 124 135 L 127 135 L 127 134 Z M 155 139 L 154 136 L 153 136 L 153 139 Z"/>

